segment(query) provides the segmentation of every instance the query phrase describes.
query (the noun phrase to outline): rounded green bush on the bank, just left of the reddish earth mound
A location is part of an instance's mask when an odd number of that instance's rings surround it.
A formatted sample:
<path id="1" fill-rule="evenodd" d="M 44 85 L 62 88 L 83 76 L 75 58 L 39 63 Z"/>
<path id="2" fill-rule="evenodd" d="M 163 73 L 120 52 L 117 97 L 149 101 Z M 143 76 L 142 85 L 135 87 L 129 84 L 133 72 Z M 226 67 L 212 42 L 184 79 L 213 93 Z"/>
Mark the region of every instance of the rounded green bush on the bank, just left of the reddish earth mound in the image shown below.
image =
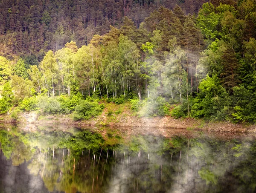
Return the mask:
<path id="1" fill-rule="evenodd" d="M 102 113 L 102 109 L 100 108 L 97 102 L 89 102 L 87 100 L 79 101 L 79 105 L 75 108 L 74 119 L 90 119 L 92 117 L 96 117 Z"/>

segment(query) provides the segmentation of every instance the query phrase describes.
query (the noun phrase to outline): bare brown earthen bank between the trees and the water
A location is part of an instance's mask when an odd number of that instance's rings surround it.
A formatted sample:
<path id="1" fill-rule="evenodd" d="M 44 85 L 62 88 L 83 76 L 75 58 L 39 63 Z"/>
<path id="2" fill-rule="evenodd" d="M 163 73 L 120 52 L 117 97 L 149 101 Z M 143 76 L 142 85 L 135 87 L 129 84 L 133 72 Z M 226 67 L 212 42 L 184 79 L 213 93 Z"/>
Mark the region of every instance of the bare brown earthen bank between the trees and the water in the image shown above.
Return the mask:
<path id="1" fill-rule="evenodd" d="M 110 113 L 111 112 L 111 113 Z M 171 116 L 144 118 L 139 117 L 131 111 L 128 105 L 109 105 L 101 115 L 84 121 L 73 121 L 73 115 L 40 115 L 38 111 L 20 112 L 15 121 L 11 115 L 1 115 L 0 122 L 5 124 L 19 124 L 22 127 L 33 129 L 36 125 L 66 125 L 74 127 L 137 127 L 137 128 L 163 128 L 163 129 L 186 129 L 186 130 L 204 130 L 215 132 L 239 132 L 256 133 L 255 125 L 234 124 L 227 121 L 213 122 L 203 119 L 179 118 Z"/>

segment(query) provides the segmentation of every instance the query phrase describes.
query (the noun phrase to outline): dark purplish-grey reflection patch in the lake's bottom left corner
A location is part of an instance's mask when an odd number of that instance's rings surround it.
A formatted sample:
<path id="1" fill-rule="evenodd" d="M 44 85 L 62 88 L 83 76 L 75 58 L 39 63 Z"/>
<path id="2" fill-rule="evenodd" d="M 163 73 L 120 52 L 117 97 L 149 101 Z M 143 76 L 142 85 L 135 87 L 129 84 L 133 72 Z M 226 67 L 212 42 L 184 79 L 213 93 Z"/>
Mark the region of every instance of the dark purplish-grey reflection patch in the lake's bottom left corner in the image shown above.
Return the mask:
<path id="1" fill-rule="evenodd" d="M 1 151 L 1 150 L 0 150 Z M 0 152 L 0 192 L 1 193 L 48 193 L 40 176 L 30 174 L 28 163 L 12 166 Z"/>

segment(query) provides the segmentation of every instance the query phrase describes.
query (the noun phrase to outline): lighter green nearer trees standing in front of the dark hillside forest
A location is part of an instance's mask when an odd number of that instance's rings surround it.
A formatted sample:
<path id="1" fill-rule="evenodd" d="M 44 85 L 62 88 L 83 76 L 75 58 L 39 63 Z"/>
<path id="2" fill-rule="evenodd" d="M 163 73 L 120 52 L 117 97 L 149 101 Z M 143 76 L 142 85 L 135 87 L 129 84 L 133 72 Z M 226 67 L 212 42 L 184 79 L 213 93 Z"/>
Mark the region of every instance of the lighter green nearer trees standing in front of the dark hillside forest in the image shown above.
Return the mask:
<path id="1" fill-rule="evenodd" d="M 196 16 L 161 6 L 139 27 L 124 16 L 86 45 L 71 40 L 39 62 L 1 57 L 3 100 L 121 97 L 143 115 L 179 104 L 175 117 L 255 121 L 255 8 L 252 0 L 212 1 Z"/>

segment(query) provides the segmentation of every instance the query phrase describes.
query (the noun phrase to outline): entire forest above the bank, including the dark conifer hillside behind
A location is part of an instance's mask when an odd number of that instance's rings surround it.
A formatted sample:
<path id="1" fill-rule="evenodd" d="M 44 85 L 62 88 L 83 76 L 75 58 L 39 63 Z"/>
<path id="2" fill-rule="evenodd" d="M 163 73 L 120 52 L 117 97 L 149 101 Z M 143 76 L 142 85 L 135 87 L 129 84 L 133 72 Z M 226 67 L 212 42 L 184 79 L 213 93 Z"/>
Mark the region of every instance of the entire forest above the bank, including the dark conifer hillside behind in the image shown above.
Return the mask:
<path id="1" fill-rule="evenodd" d="M 2 1 L 1 113 L 256 121 L 254 0 Z"/>

